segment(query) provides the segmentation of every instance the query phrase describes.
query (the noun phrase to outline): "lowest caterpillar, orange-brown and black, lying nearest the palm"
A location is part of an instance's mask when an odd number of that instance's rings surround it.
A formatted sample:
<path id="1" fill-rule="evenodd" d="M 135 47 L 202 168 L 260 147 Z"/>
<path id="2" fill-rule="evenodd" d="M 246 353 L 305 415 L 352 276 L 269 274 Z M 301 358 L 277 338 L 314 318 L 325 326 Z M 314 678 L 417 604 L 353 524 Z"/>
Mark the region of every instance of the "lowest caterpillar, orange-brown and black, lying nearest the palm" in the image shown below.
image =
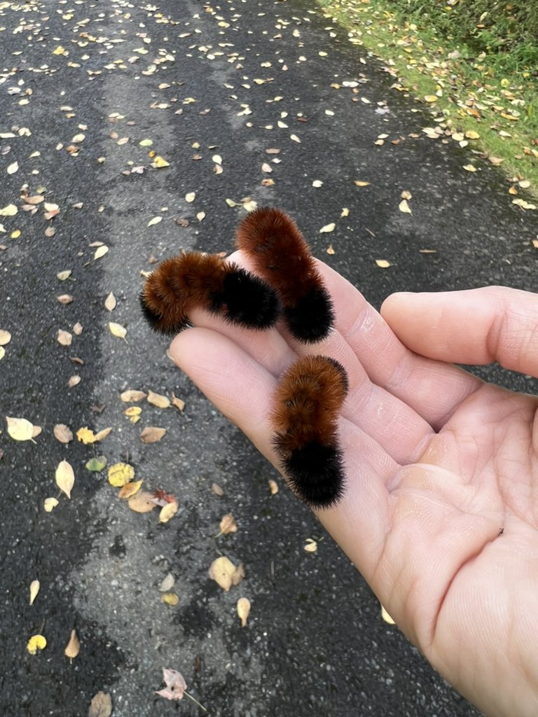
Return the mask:
<path id="1" fill-rule="evenodd" d="M 344 367 L 327 356 L 298 359 L 276 390 L 273 447 L 291 489 L 311 508 L 330 508 L 344 495 L 336 422 L 347 391 Z"/>

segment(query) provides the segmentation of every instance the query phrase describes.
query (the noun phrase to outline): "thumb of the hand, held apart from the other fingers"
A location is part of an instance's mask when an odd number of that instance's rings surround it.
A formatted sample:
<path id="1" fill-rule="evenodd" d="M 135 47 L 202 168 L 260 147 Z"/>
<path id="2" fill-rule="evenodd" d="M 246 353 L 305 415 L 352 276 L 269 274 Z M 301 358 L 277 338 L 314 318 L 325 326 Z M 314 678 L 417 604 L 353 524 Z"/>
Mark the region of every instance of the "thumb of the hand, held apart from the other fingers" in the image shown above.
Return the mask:
<path id="1" fill-rule="evenodd" d="M 431 359 L 538 376 L 538 295 L 503 286 L 393 294 L 382 314 L 405 346 Z"/>

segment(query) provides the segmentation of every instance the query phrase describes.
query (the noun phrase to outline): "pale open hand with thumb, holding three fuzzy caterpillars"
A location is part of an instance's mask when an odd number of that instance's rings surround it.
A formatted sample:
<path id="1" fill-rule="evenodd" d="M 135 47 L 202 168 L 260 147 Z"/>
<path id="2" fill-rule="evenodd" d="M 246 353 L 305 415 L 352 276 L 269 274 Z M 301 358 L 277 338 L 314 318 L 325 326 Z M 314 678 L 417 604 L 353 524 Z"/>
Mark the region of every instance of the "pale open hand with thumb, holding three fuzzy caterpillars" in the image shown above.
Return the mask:
<path id="1" fill-rule="evenodd" d="M 248 268 L 237 252 L 233 259 Z M 319 264 L 336 326 L 314 346 L 283 326 L 206 313 L 171 357 L 278 467 L 269 415 L 296 356 L 349 375 L 346 493 L 321 523 L 433 667 L 487 715 L 538 714 L 538 397 L 453 366 L 538 376 L 538 296 L 508 288 L 395 294 L 381 314 Z M 238 390 L 240 389 L 240 390 Z"/>

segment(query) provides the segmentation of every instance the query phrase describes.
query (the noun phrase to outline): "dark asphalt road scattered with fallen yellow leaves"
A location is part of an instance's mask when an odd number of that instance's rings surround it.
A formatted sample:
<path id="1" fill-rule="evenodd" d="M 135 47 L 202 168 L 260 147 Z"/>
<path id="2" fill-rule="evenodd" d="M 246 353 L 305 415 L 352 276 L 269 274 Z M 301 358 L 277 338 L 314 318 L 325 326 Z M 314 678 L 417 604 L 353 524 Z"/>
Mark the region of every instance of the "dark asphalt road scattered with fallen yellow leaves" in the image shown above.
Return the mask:
<path id="1" fill-rule="evenodd" d="M 471 146 L 428 138 L 435 123 L 421 105 L 308 3 L 2 1 L 0 70 L 0 209 L 18 210 L 0 217 L 0 330 L 11 333 L 0 361 L 0 715 L 85 716 L 99 690 L 114 717 L 201 713 L 154 694 L 162 667 L 180 670 L 213 716 L 476 715 L 166 358 L 138 293 L 151 257 L 230 251 L 245 198 L 290 212 L 316 256 L 376 306 L 395 290 L 535 290 L 535 213 L 511 204 L 506 179 Z M 152 166 L 150 152 L 168 166 Z M 412 214 L 399 209 L 402 191 Z M 108 247 L 100 258 L 95 242 Z M 535 389 L 494 367 L 481 374 Z M 185 407 L 132 404 L 142 408 L 132 424 L 126 389 L 174 391 Z M 13 440 L 5 416 L 42 432 Z M 98 447 L 65 444 L 56 424 L 113 430 Z M 167 433 L 145 444 L 146 426 Z M 107 469 L 85 467 L 94 455 L 133 465 L 179 512 L 159 524 L 156 511 L 129 510 Z M 48 513 L 62 460 L 75 485 Z M 237 532 L 215 538 L 226 513 Z M 245 565 L 230 592 L 208 576 L 220 555 Z M 169 573 L 175 606 L 159 591 Z M 246 627 L 239 597 L 252 603 Z M 72 629 L 81 647 L 70 662 Z M 35 634 L 47 647 L 29 655 Z"/>

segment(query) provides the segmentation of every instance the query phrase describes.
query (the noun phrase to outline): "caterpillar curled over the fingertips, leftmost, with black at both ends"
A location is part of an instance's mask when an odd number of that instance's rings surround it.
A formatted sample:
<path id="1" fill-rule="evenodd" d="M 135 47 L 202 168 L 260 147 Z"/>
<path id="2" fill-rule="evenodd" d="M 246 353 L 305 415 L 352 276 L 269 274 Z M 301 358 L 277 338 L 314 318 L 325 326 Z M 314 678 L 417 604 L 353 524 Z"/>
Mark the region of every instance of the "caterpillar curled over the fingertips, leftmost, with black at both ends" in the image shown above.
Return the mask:
<path id="1" fill-rule="evenodd" d="M 195 307 L 258 329 L 274 326 L 280 313 L 275 292 L 258 277 L 218 255 L 198 252 L 161 262 L 146 279 L 140 303 L 151 328 L 169 335 L 191 326 Z"/>

